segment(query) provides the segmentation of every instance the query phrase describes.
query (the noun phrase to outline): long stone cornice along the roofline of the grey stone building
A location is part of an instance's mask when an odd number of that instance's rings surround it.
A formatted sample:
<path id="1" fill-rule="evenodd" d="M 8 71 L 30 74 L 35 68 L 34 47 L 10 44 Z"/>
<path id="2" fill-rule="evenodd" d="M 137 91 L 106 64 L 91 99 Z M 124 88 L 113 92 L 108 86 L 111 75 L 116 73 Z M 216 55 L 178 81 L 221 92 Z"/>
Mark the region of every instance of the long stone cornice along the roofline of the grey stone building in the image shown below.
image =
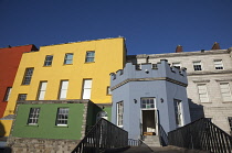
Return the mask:
<path id="1" fill-rule="evenodd" d="M 203 56 L 203 55 L 217 55 L 217 54 L 230 54 L 228 50 L 214 50 L 214 51 L 198 51 L 198 52 L 181 52 L 181 53 L 167 53 L 167 54 L 140 54 L 128 55 L 127 58 L 160 58 L 160 57 L 180 57 L 180 56 Z"/>

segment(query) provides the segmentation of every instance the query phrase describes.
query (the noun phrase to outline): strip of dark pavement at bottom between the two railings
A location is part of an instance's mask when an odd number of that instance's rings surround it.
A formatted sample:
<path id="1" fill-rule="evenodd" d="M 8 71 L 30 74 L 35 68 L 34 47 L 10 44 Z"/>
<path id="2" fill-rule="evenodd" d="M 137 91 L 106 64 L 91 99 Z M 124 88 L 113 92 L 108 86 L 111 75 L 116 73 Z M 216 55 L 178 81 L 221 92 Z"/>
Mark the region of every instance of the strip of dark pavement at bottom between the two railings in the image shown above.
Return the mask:
<path id="1" fill-rule="evenodd" d="M 131 146 L 123 153 L 210 153 L 208 151 L 188 150 L 177 146 L 165 146 L 165 147 L 148 147 L 148 146 Z"/>

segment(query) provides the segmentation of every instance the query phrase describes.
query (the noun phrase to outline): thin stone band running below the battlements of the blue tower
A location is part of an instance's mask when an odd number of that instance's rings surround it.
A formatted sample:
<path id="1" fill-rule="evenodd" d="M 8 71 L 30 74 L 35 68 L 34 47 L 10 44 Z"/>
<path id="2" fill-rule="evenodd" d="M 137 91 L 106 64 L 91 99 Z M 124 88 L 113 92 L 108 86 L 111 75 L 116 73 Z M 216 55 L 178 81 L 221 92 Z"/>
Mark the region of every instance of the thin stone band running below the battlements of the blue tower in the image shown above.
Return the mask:
<path id="1" fill-rule="evenodd" d="M 178 81 L 178 80 L 175 80 L 175 79 L 171 79 L 169 77 L 155 77 L 155 78 L 127 78 L 125 80 L 123 80 L 122 83 L 115 85 L 114 87 L 112 87 L 110 89 L 114 90 L 129 81 L 152 81 L 152 80 L 167 80 L 169 83 L 173 83 L 173 84 L 177 84 L 177 85 L 180 85 L 180 86 L 183 86 L 183 87 L 187 87 L 188 85 L 184 84 L 184 83 L 181 83 L 181 81 Z"/>

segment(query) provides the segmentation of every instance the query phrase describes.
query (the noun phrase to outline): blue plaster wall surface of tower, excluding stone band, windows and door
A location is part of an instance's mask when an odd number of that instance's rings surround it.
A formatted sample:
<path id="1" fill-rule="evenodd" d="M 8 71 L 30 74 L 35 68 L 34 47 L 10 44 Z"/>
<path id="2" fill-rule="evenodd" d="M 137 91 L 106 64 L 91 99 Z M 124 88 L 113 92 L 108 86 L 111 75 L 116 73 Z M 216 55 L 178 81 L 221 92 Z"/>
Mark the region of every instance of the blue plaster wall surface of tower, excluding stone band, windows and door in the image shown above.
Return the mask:
<path id="1" fill-rule="evenodd" d="M 147 69 L 149 73 L 146 73 Z M 113 90 L 113 113 L 112 122 L 116 123 L 116 102 L 124 101 L 124 125 L 123 128 L 129 132 L 130 139 L 140 136 L 141 110 L 140 98 L 156 98 L 157 109 L 159 110 L 160 124 L 166 132 L 175 130 L 176 119 L 173 110 L 173 99 L 182 100 L 184 110 L 184 123 L 190 122 L 189 106 L 186 94 L 186 87 L 161 80 L 159 78 L 169 77 L 180 83 L 187 84 L 186 73 L 175 68 L 171 70 L 166 61 L 158 64 L 158 69 L 151 69 L 151 65 L 141 65 L 141 70 L 136 70 L 135 66 L 128 63 L 123 69 L 123 74 L 117 72 L 116 76 L 112 74 L 112 88 L 126 79 L 147 78 L 147 80 L 131 80 Z M 114 79 L 114 77 L 116 77 Z M 157 78 L 157 80 L 148 80 Z M 164 99 L 164 102 L 160 99 Z M 137 102 L 135 102 L 135 100 Z"/>

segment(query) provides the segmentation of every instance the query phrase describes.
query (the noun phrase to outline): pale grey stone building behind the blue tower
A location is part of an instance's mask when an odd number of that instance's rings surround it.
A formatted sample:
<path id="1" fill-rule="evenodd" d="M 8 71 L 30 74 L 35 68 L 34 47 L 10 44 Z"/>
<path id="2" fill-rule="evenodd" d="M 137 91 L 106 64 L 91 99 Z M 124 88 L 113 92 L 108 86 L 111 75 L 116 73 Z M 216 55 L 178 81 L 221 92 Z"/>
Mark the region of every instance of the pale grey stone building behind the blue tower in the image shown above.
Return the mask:
<path id="1" fill-rule="evenodd" d="M 228 133 L 232 131 L 232 47 L 221 50 L 214 43 L 209 51 L 129 55 L 127 62 L 156 64 L 160 59 L 176 67 L 186 67 L 188 76 L 188 101 L 191 121 L 209 118 Z"/>

